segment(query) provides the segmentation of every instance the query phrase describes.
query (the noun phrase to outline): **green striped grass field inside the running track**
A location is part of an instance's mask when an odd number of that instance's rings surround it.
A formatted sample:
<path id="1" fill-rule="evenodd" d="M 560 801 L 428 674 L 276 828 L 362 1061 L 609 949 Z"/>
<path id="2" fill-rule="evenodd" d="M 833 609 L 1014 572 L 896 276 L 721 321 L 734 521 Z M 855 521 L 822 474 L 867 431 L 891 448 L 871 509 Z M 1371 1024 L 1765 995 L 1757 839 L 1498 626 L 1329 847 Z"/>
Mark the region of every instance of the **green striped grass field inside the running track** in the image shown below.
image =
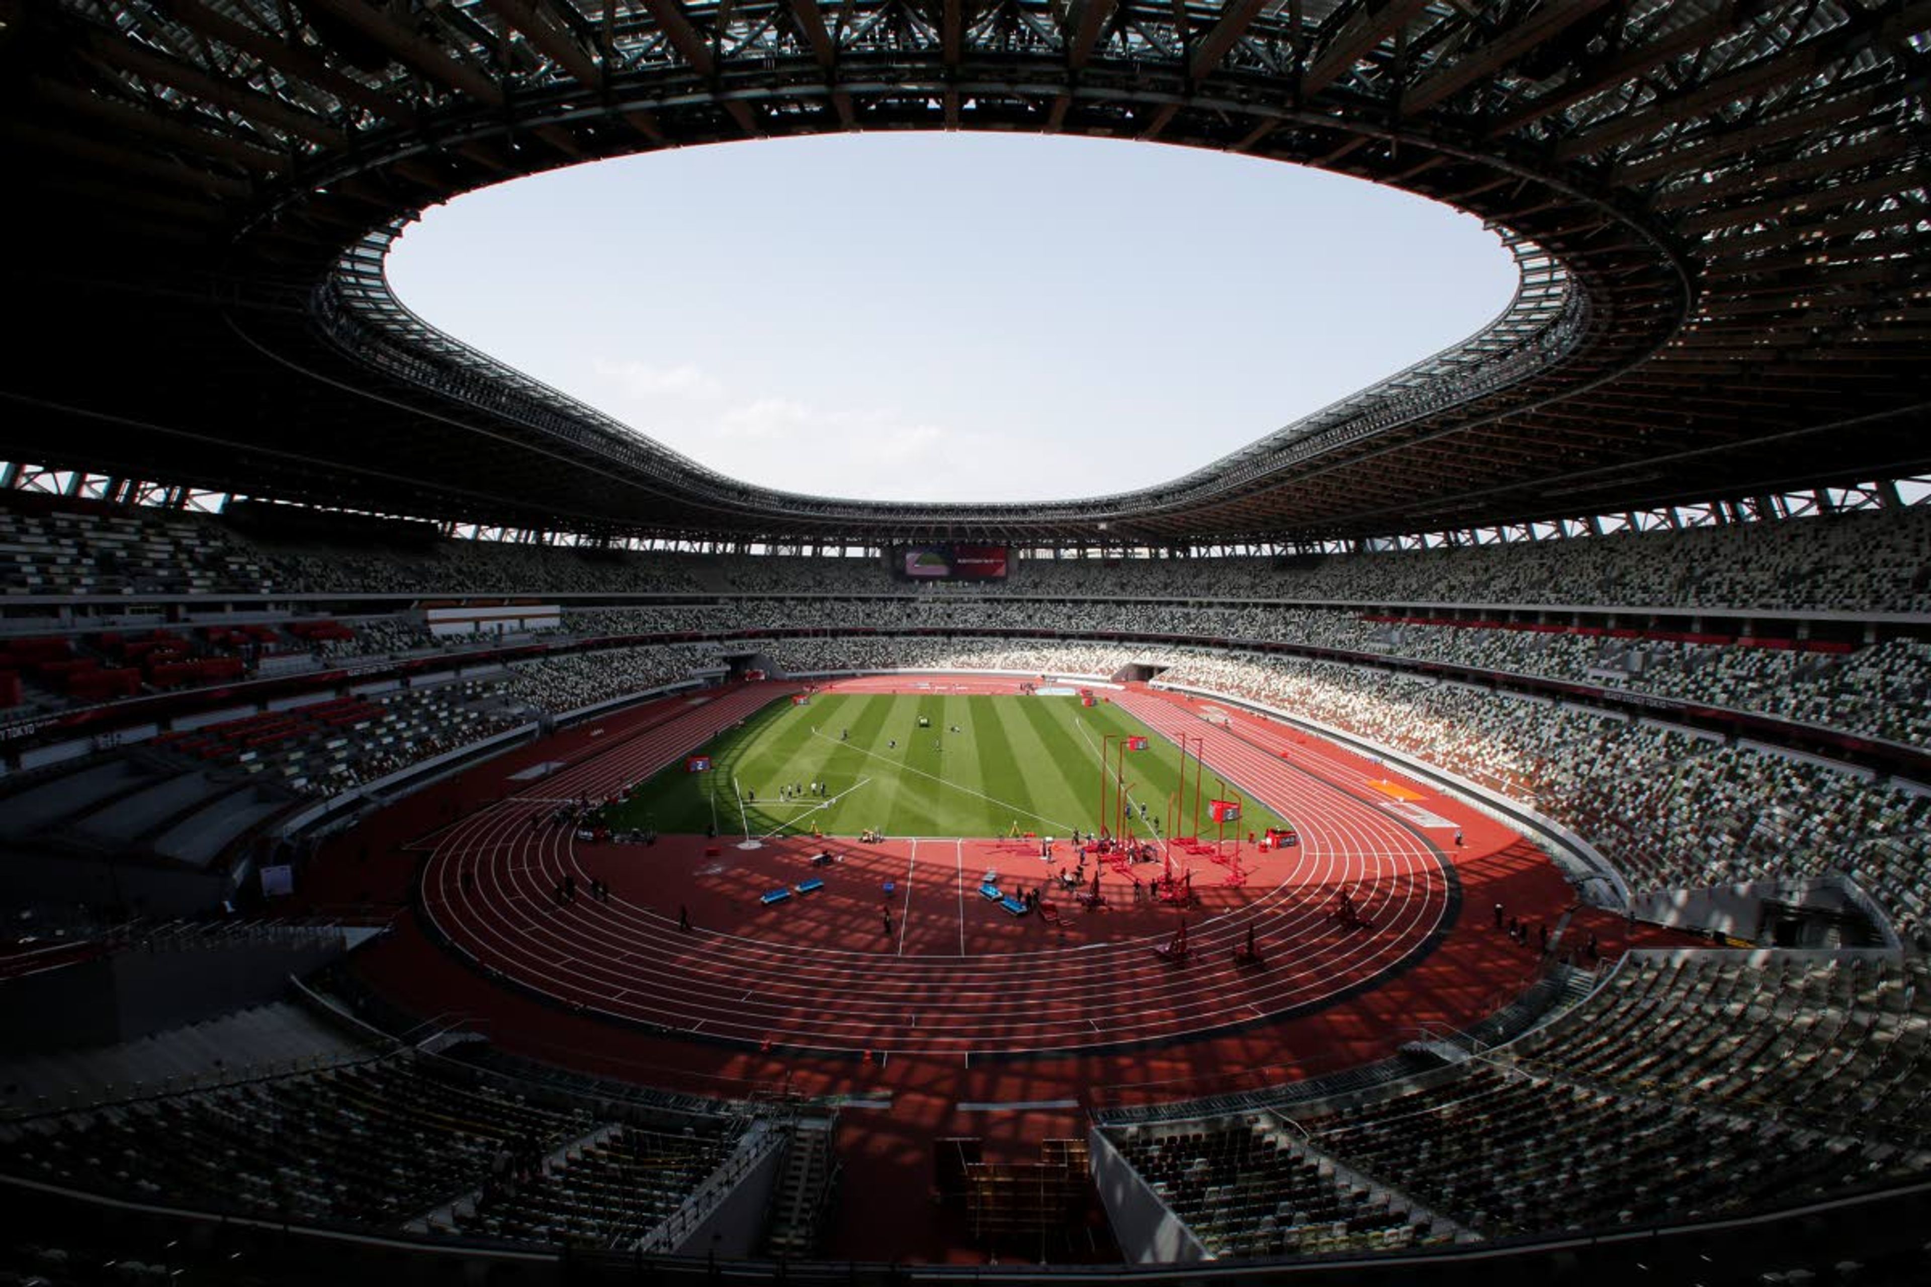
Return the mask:
<path id="1" fill-rule="evenodd" d="M 931 727 L 917 727 L 919 716 Z M 720 835 L 809 834 L 813 826 L 826 835 L 867 828 L 886 835 L 1008 835 L 1014 822 L 1020 832 L 1043 835 L 1097 832 L 1099 754 L 1108 733 L 1108 764 L 1120 735 L 1147 737 L 1147 751 L 1126 754 L 1128 801 L 1147 807 L 1147 822 L 1133 826 L 1137 835 L 1151 835 L 1155 820 L 1164 832 L 1168 799 L 1180 789 L 1174 743 L 1112 704 L 1085 708 L 1074 697 L 1018 695 L 821 693 L 807 706 L 780 700 L 705 749 L 709 774 L 686 772 L 680 760 L 604 816 L 614 828 L 666 834 L 703 832 L 714 816 Z M 826 785 L 825 797 L 809 795 L 813 781 Z M 780 799 L 780 787 L 794 783 L 807 793 Z M 1213 793 L 1209 766 L 1201 787 L 1205 835 L 1213 835 L 1205 820 Z M 1191 760 L 1186 801 L 1180 834 L 1191 832 Z M 1257 832 L 1280 826 L 1280 818 L 1247 801 L 1242 826 Z"/>

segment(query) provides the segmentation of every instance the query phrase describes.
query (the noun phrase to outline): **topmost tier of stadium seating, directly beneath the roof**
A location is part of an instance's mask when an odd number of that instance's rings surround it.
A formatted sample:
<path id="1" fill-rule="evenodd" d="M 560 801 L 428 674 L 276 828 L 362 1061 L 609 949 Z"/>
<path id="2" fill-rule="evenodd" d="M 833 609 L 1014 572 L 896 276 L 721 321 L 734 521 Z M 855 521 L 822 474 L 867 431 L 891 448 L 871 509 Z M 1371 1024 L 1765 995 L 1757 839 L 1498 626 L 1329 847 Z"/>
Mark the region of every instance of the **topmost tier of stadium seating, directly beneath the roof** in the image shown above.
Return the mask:
<path id="1" fill-rule="evenodd" d="M 1027 594 L 1045 598 L 1931 612 L 1931 507 L 1282 563 L 1031 560 L 1006 581 L 911 585 L 882 558 L 686 556 L 433 540 L 278 544 L 205 515 L 0 509 L 0 592 Z"/>

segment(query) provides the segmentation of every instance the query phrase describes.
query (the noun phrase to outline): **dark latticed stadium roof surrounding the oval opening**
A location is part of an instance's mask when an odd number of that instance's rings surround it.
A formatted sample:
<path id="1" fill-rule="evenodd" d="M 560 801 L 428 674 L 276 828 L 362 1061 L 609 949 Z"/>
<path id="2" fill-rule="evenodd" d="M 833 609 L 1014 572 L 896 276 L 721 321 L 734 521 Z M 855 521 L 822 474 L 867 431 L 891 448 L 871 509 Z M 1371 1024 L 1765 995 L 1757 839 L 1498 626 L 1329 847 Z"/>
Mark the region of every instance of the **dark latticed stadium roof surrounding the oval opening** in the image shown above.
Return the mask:
<path id="1" fill-rule="evenodd" d="M 0 0 L 0 21 L 4 459 L 539 531 L 1020 544 L 1367 536 L 1931 465 L 1931 2 Z M 1469 342 L 1157 488 L 911 506 L 707 471 L 382 280 L 421 208 L 479 185 L 844 129 L 1321 166 L 1479 214 L 1522 286 Z"/>

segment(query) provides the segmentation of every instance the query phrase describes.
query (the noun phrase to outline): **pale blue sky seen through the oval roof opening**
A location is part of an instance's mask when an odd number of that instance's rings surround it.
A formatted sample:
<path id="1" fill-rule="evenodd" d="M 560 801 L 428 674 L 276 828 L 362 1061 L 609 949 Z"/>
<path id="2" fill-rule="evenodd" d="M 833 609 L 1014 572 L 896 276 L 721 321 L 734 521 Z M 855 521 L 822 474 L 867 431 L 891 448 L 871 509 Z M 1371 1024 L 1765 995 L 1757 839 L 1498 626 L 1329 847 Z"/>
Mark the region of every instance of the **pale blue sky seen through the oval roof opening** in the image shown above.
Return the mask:
<path id="1" fill-rule="evenodd" d="M 1157 486 L 1456 343 L 1473 216 L 1218 152 L 884 133 L 684 149 L 425 212 L 419 316 L 726 475 L 859 500 Z"/>

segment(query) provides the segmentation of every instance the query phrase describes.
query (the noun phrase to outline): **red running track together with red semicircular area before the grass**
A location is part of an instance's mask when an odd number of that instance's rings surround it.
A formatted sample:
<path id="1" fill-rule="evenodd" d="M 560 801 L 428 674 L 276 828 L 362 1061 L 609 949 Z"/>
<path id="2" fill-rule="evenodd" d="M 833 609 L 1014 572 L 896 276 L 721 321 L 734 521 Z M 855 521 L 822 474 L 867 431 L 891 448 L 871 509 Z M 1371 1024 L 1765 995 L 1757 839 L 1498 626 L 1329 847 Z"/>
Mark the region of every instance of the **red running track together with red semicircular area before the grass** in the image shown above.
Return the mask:
<path id="1" fill-rule="evenodd" d="M 1303 841 L 1253 868 L 1267 884 L 1215 891 L 1188 928 L 1186 965 L 1153 951 L 1174 915 L 1133 907 L 1112 872 L 1103 882 L 1118 911 L 1068 909 L 1060 932 L 1012 922 L 979 897 L 979 870 L 1018 864 L 1043 876 L 1045 866 L 998 841 L 857 851 L 826 874 L 838 888 L 765 909 L 765 890 L 819 874 L 803 866 L 805 845 L 745 853 L 726 841 L 711 855 L 693 843 L 581 845 L 548 824 L 552 801 L 618 793 L 786 691 L 726 693 L 452 824 L 423 868 L 425 915 L 473 963 L 579 1015 L 730 1044 L 967 1065 L 1164 1046 L 1301 1015 L 1412 965 L 1454 922 L 1452 866 L 1386 797 L 1348 778 L 1359 778 L 1352 764 L 1286 762 L 1145 693 L 1114 700 L 1168 737 L 1205 735 L 1211 772 L 1294 818 Z M 1203 866 L 1197 880 L 1220 870 Z M 593 874 L 610 880 L 608 901 L 589 897 Z M 579 893 L 558 905 L 566 876 Z M 1336 922 L 1336 890 L 1352 891 L 1367 928 Z M 693 909 L 691 932 L 680 930 L 680 905 Z M 1265 969 L 1234 963 L 1249 932 Z"/>

